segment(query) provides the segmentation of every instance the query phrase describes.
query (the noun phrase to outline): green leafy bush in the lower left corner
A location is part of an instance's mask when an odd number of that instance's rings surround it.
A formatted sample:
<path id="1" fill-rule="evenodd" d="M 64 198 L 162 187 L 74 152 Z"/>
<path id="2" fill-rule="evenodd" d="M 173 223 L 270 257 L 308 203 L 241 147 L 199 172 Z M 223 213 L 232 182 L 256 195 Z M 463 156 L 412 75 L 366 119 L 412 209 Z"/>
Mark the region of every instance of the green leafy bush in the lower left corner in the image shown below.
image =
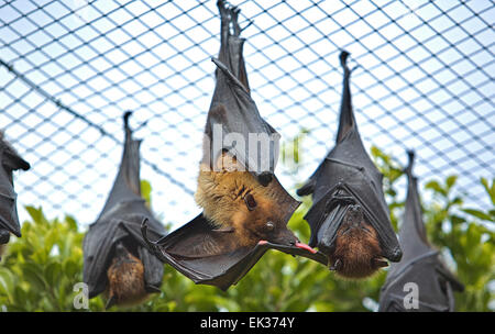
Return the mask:
<path id="1" fill-rule="evenodd" d="M 82 233 L 66 216 L 48 221 L 26 208 L 31 221 L 10 242 L 0 266 L 0 307 L 8 311 L 64 311 L 73 305 L 73 285 L 82 280 Z M 100 302 L 101 303 L 101 302 Z M 91 302 L 91 307 L 99 303 Z"/>

